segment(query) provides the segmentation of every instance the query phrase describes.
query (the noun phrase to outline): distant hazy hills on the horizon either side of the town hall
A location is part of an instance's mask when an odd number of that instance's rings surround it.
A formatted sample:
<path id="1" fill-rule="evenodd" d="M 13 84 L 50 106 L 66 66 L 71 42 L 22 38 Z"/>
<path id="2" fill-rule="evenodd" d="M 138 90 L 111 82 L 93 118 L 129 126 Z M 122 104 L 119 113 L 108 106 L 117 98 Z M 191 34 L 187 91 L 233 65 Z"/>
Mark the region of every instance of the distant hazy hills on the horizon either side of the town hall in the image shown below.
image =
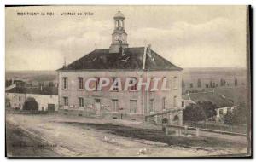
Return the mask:
<path id="1" fill-rule="evenodd" d="M 186 84 L 185 90 L 189 89 L 189 84 L 193 83 L 194 88 L 198 79 L 201 79 L 202 88 L 210 80 L 219 83 L 220 78 L 233 83 L 234 78 L 238 79 L 238 84 L 246 84 L 246 69 L 244 68 L 186 68 L 183 69 L 183 80 Z M 7 71 L 5 78 L 23 78 L 36 82 L 49 82 L 57 80 L 56 71 Z"/>

